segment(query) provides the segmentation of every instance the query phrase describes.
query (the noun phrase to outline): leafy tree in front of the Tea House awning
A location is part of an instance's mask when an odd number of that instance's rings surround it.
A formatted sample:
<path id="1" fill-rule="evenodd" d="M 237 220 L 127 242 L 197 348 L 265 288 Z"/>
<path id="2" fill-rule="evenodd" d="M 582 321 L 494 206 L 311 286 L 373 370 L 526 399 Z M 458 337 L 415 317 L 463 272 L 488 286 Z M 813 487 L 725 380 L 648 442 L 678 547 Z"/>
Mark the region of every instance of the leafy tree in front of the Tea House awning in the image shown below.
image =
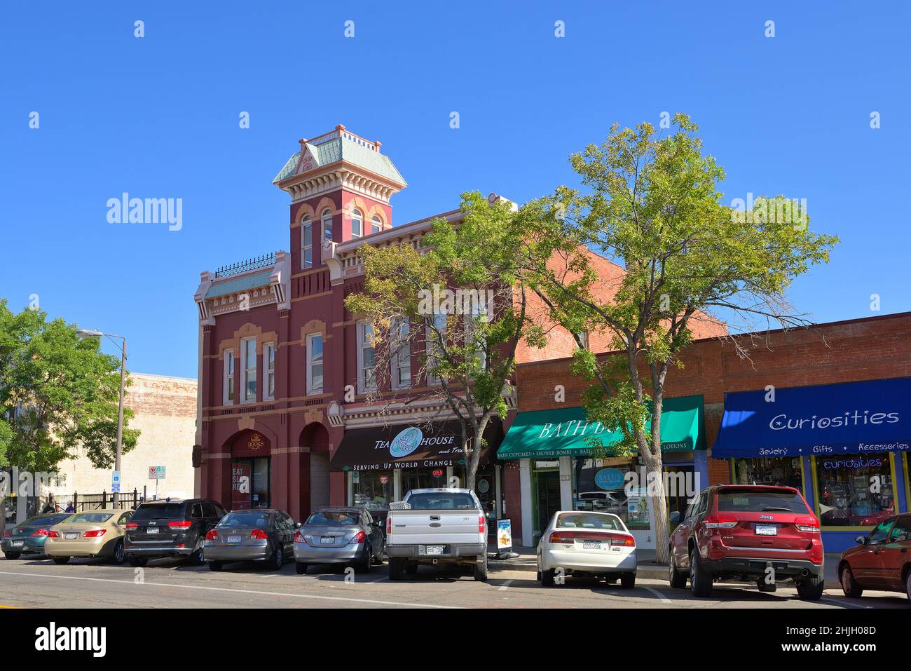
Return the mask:
<path id="1" fill-rule="evenodd" d="M 461 209 L 459 222 L 435 220 L 420 249 L 363 245 L 364 288 L 345 306 L 373 326 L 368 398 L 448 408 L 461 424 L 466 487 L 474 489 L 484 431 L 494 415 L 506 417 L 517 346 L 545 340 L 527 310 L 516 263 L 523 233 L 511 203 L 475 191 L 462 195 Z M 418 370 L 395 388 L 396 362 L 412 357 Z"/>

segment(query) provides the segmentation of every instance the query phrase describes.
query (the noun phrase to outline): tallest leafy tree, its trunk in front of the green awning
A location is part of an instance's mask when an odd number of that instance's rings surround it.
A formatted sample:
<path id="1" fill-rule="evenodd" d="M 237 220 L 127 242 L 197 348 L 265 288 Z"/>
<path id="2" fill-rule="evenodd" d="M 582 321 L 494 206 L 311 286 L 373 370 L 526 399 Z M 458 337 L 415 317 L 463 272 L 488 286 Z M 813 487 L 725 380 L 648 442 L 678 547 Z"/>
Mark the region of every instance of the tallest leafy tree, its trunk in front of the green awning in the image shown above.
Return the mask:
<path id="1" fill-rule="evenodd" d="M 779 196 L 752 212 L 722 203 L 724 172 L 703 154 L 697 126 L 683 114 L 670 134 L 648 123 L 614 125 L 601 145 L 570 156 L 585 192 L 560 187 L 532 201 L 520 219 L 539 244 L 528 277 L 553 318 L 568 331 L 609 336 L 614 356 L 583 348 L 572 370 L 591 380 L 584 395 L 590 421 L 622 431 L 620 454 L 638 451 L 662 472 L 661 408 L 670 366 L 697 326 L 720 334 L 809 324 L 786 299 L 793 279 L 828 261 L 837 238 L 809 230 L 804 208 Z M 625 269 L 599 276 L 588 250 Z M 561 263 L 549 263 L 553 258 Z M 704 330 L 702 331 L 705 332 Z M 742 356 L 736 336 L 727 337 Z M 578 340 L 578 336 L 577 336 Z M 595 453 L 606 446 L 594 441 Z M 657 554 L 669 560 L 664 484 L 649 482 Z"/>

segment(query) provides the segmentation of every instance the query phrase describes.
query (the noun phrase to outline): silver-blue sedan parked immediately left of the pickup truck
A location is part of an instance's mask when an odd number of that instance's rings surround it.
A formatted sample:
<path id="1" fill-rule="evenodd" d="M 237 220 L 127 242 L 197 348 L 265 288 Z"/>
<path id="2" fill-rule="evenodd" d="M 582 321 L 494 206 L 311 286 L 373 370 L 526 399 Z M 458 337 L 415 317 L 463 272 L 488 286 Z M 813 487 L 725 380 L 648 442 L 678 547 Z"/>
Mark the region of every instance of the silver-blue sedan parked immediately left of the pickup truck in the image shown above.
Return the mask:
<path id="1" fill-rule="evenodd" d="M 320 508 L 294 534 L 297 573 L 307 573 L 312 564 L 353 565 L 367 573 L 383 563 L 383 528 L 363 508 Z"/>

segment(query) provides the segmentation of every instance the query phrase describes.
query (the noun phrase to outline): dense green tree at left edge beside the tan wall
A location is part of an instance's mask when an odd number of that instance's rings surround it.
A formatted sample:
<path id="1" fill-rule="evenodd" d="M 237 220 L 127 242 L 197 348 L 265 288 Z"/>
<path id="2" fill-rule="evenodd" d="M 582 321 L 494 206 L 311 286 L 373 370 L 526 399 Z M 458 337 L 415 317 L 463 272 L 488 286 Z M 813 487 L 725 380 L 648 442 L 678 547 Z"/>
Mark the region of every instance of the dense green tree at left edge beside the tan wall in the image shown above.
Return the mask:
<path id="1" fill-rule="evenodd" d="M 119 358 L 97 338 L 80 340 L 76 325 L 27 308 L 15 314 L 0 300 L 0 463 L 52 472 L 81 449 L 96 468 L 111 468 L 119 370 Z M 124 408 L 123 453 L 136 447 L 132 417 Z"/>

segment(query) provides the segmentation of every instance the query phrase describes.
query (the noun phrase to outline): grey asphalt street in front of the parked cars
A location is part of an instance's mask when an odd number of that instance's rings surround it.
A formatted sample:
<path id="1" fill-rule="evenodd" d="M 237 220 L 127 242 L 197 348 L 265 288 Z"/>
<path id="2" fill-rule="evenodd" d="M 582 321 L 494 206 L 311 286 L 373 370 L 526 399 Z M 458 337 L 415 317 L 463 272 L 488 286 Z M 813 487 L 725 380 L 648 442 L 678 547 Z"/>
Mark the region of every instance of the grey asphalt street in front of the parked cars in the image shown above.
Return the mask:
<path id="1" fill-rule="evenodd" d="M 773 594 L 756 587 L 718 584 L 711 598 L 670 589 L 666 580 L 639 578 L 635 589 L 569 578 L 563 586 L 541 587 L 535 573 L 490 564 L 487 583 L 421 567 L 416 576 L 391 583 L 386 568 L 348 575 L 332 567 L 294 573 L 229 564 L 215 573 L 206 566 L 173 560 L 144 569 L 97 560 L 58 566 L 43 558 L 0 559 L 0 606 L 25 608 L 907 608 L 902 594 L 865 593 L 847 599 L 837 584 L 819 602 L 804 602 L 790 588 Z"/>

